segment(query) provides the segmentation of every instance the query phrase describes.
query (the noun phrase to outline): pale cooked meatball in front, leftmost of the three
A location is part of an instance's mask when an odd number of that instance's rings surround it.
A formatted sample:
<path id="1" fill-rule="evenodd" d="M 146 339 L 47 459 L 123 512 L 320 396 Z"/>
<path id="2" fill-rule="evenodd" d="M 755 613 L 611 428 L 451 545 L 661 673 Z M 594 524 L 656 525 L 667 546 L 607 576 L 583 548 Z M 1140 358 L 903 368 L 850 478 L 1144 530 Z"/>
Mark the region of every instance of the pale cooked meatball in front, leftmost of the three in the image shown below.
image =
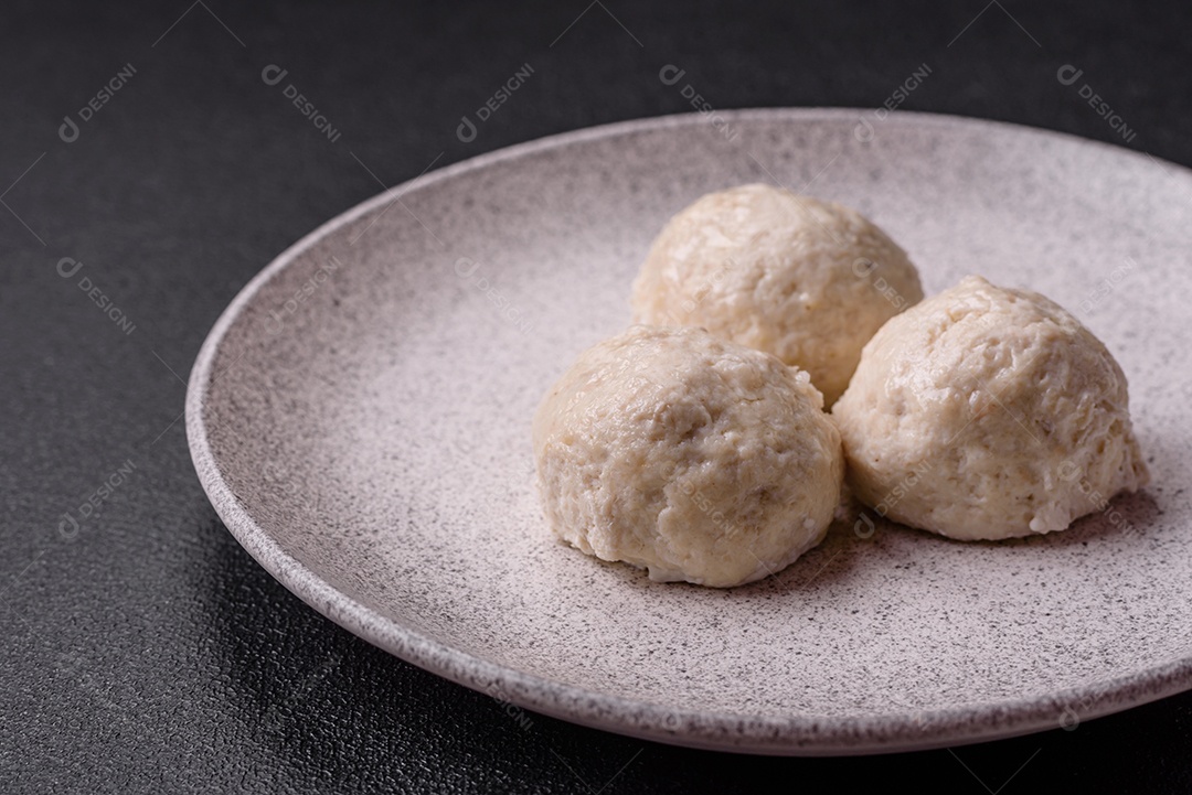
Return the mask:
<path id="1" fill-rule="evenodd" d="M 778 571 L 824 538 L 844 480 L 807 374 L 702 328 L 633 326 L 582 353 L 533 440 L 554 533 L 658 581 Z"/>

